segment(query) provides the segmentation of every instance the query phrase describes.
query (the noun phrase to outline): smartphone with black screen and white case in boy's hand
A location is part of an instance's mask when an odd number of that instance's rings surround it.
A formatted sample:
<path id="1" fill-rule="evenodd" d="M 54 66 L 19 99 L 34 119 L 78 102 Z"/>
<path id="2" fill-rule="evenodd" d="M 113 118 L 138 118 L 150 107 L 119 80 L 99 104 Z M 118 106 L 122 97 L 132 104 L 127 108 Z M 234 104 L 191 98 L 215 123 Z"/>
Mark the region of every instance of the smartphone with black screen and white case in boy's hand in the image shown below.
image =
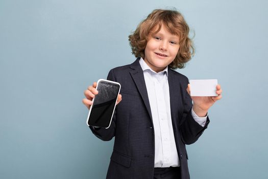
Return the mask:
<path id="1" fill-rule="evenodd" d="M 99 93 L 92 99 L 87 117 L 88 126 L 110 127 L 120 88 L 117 82 L 98 80 L 96 89 Z"/>

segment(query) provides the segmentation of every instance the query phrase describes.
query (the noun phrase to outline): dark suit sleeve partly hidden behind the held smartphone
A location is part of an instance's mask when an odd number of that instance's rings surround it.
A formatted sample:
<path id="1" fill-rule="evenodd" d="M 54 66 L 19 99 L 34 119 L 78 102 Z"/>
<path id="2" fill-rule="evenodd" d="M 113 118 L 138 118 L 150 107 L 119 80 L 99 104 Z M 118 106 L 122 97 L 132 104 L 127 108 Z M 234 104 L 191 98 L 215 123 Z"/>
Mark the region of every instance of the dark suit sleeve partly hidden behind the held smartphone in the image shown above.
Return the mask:
<path id="1" fill-rule="evenodd" d="M 115 77 L 113 75 L 113 70 L 111 70 L 108 74 L 107 80 L 111 80 L 111 81 L 115 81 Z M 93 134 L 98 137 L 99 139 L 103 140 L 103 141 L 110 141 L 114 135 L 115 135 L 115 127 L 116 127 L 116 107 L 114 110 L 114 114 L 113 114 L 113 118 L 112 118 L 112 122 L 109 128 L 103 128 L 103 127 L 92 127 L 89 126 L 89 128 L 91 129 L 91 131 L 93 132 Z"/>

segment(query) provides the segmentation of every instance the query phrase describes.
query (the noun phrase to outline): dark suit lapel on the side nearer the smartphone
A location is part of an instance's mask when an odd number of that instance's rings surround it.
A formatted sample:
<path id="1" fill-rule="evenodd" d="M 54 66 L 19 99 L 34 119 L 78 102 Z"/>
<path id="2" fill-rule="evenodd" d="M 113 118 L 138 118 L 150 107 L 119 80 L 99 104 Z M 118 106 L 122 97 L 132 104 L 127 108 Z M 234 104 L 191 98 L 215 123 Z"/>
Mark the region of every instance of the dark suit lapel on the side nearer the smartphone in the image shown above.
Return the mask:
<path id="1" fill-rule="evenodd" d="M 147 88 L 145 85 L 143 71 L 142 71 L 141 66 L 139 64 L 139 59 L 140 58 L 137 58 L 137 60 L 131 64 L 130 68 L 132 69 L 132 71 L 130 72 L 130 74 L 131 74 L 131 76 L 132 76 L 132 78 L 133 78 L 133 80 L 138 88 L 138 91 L 141 95 L 141 98 L 142 98 L 144 104 L 145 104 L 145 107 L 148 110 L 151 121 L 153 121 L 149 97 L 148 97 L 148 93 L 147 93 Z"/>

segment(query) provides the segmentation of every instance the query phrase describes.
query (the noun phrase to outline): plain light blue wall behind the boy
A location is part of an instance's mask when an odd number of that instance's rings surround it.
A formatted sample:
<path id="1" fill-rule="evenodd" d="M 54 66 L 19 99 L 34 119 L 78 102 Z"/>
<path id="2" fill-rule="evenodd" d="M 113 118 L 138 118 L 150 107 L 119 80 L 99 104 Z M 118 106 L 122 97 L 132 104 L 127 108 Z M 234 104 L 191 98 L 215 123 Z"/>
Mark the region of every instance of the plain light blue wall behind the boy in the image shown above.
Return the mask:
<path id="1" fill-rule="evenodd" d="M 0 178 L 105 178 L 113 140 L 92 135 L 83 92 L 133 62 L 128 35 L 170 7 L 196 34 L 178 72 L 224 91 L 187 146 L 191 178 L 268 178 L 268 2 L 212 0 L 2 0 Z"/>

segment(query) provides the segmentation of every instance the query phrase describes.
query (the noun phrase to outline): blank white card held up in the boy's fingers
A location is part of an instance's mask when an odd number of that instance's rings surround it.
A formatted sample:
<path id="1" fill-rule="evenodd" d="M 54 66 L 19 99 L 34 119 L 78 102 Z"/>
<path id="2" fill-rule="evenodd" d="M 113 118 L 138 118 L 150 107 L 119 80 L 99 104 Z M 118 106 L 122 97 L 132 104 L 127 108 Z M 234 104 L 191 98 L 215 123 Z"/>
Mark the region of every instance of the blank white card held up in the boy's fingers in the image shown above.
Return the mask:
<path id="1" fill-rule="evenodd" d="M 191 96 L 218 96 L 216 94 L 216 79 L 212 80 L 190 80 Z"/>

